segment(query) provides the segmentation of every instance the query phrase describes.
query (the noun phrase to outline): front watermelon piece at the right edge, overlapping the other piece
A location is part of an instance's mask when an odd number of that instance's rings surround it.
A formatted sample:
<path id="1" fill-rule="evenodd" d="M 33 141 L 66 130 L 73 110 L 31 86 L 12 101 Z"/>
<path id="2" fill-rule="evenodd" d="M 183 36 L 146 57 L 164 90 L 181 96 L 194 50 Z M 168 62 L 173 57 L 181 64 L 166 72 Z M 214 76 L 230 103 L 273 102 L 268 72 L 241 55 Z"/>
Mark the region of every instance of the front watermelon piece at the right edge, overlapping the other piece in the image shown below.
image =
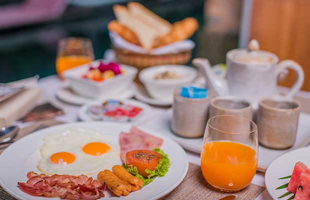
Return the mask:
<path id="1" fill-rule="evenodd" d="M 310 199 L 310 170 L 307 169 L 300 174 L 294 200 L 309 200 L 309 199 Z"/>

